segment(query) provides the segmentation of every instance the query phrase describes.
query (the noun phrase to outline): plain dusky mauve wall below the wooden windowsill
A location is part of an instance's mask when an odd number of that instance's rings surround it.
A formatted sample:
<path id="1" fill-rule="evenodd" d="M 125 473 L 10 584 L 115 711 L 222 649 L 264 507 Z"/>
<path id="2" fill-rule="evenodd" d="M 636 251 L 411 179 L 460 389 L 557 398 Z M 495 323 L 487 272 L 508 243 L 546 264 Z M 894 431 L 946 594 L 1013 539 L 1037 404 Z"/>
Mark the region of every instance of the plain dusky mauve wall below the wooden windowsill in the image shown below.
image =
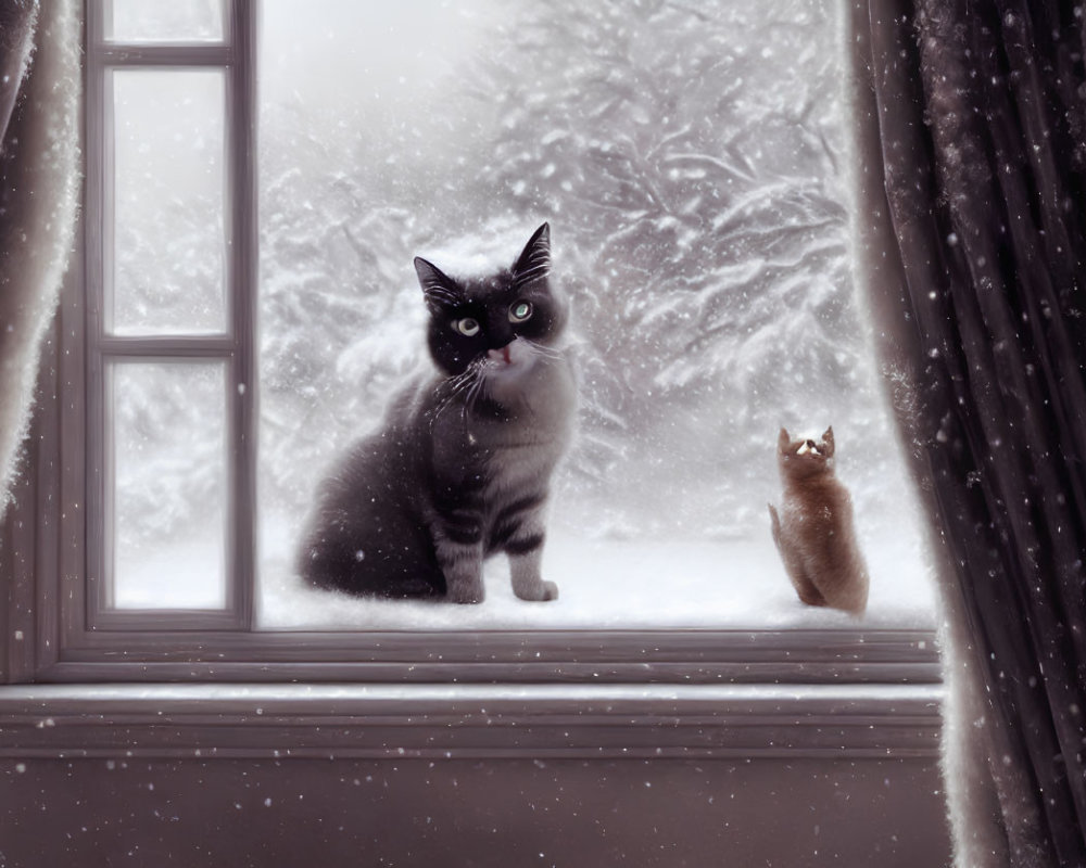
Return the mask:
<path id="1" fill-rule="evenodd" d="M 936 761 L 11 760 L 0 866 L 949 864 Z"/>

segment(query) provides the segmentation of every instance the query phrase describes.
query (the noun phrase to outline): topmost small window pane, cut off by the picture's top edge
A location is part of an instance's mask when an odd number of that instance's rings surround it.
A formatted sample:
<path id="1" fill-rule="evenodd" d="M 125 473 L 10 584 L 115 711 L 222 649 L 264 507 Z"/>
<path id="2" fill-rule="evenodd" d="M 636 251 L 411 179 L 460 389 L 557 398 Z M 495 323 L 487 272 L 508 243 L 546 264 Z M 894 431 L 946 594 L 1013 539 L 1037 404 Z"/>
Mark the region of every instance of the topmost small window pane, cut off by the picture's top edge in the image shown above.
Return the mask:
<path id="1" fill-rule="evenodd" d="M 118 42 L 203 42 L 223 39 L 223 0 L 106 0 L 105 38 Z M 106 22 L 111 16 L 106 15 Z"/>

